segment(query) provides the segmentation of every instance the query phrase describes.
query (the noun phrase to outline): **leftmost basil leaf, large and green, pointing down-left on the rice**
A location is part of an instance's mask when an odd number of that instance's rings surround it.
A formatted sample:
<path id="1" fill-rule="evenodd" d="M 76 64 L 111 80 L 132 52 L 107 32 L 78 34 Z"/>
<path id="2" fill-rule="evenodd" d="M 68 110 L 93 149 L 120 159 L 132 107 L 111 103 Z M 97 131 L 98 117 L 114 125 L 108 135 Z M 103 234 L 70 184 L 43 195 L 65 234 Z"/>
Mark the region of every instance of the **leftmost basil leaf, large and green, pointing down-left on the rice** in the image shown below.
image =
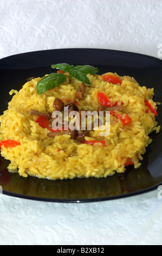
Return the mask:
<path id="1" fill-rule="evenodd" d="M 47 92 L 47 90 L 58 87 L 64 82 L 66 82 L 65 75 L 62 73 L 51 73 L 50 75 L 43 77 L 40 81 L 37 82 L 37 94 Z"/>

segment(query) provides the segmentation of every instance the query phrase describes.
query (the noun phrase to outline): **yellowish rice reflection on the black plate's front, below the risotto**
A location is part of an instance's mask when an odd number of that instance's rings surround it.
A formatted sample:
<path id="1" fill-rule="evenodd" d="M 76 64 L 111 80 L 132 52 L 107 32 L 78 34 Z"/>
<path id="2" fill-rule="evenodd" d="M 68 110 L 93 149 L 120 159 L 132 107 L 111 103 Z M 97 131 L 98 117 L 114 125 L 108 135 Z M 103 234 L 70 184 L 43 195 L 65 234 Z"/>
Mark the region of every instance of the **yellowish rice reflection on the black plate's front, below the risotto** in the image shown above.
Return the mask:
<path id="1" fill-rule="evenodd" d="M 121 195 L 142 191 L 156 182 L 147 169 L 147 161 L 134 169 L 129 166 L 125 173 L 115 174 L 107 178 L 82 178 L 68 180 L 47 180 L 28 176 L 23 178 L 18 174 L 8 172 L 9 161 L 1 157 L 0 185 L 3 193 L 20 195 L 29 199 L 59 201 L 100 200 L 107 197 L 115 198 Z"/>

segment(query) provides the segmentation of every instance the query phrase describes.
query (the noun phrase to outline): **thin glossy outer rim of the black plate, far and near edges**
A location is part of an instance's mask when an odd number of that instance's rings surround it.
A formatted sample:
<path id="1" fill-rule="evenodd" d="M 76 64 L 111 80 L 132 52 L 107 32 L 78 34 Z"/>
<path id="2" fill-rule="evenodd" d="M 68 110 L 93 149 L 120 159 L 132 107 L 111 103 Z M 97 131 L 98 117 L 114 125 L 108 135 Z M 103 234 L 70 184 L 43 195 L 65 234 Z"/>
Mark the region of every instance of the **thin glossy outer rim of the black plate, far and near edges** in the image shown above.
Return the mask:
<path id="1" fill-rule="evenodd" d="M 46 52 L 66 52 L 66 51 L 102 51 L 102 52 L 109 52 L 109 53 L 114 53 L 114 54 L 121 54 L 121 55 L 125 55 L 128 54 L 130 56 L 139 56 L 139 57 L 144 57 L 144 58 L 149 58 L 152 60 L 155 60 L 157 62 L 159 62 L 162 66 L 162 60 L 153 56 L 149 56 L 147 54 L 142 54 L 142 53 L 136 53 L 136 52 L 129 52 L 129 51 L 121 51 L 121 50 L 111 50 L 111 49 L 107 49 L 107 48 L 58 48 L 58 49 L 50 49 L 50 50 L 38 50 L 38 51 L 31 51 L 31 52 L 24 52 L 24 53 L 18 53 L 18 54 L 13 54 L 11 56 L 7 56 L 4 57 L 2 59 L 0 59 L 0 71 L 1 71 L 1 63 L 7 63 L 8 64 L 8 60 L 10 59 L 14 59 L 14 58 L 23 58 L 23 57 L 28 57 L 30 58 L 31 55 L 36 54 L 38 56 L 38 54 L 40 53 L 46 53 Z M 97 63 L 96 63 L 97 65 Z M 129 74 L 126 74 L 129 75 Z M 157 189 L 158 186 L 160 186 L 162 184 L 162 180 L 160 182 L 157 182 L 157 184 L 152 185 L 150 187 L 141 189 L 139 191 L 134 191 L 134 192 L 128 192 L 126 194 L 119 194 L 119 195 L 115 195 L 115 196 L 108 196 L 108 197 L 99 197 L 99 198 L 75 198 L 75 199 L 60 199 L 60 198 L 48 198 L 48 197 L 39 197 L 39 196 L 28 196 L 25 194 L 18 194 L 15 192 L 11 192 L 11 191 L 5 191 L 3 190 L 3 194 L 7 195 L 7 196 L 12 196 L 12 197 L 18 197 L 18 198 L 23 198 L 23 199 L 30 199 L 30 200 L 38 200 L 38 201 L 44 201 L 44 202 L 57 202 L 57 203 L 90 203 L 90 202 L 101 202 L 101 201 L 106 201 L 106 200 L 113 200 L 113 199 L 121 199 L 121 198 L 127 198 L 127 197 L 133 197 L 136 196 L 138 194 L 144 194 L 150 191 L 153 191 L 155 189 Z"/>

